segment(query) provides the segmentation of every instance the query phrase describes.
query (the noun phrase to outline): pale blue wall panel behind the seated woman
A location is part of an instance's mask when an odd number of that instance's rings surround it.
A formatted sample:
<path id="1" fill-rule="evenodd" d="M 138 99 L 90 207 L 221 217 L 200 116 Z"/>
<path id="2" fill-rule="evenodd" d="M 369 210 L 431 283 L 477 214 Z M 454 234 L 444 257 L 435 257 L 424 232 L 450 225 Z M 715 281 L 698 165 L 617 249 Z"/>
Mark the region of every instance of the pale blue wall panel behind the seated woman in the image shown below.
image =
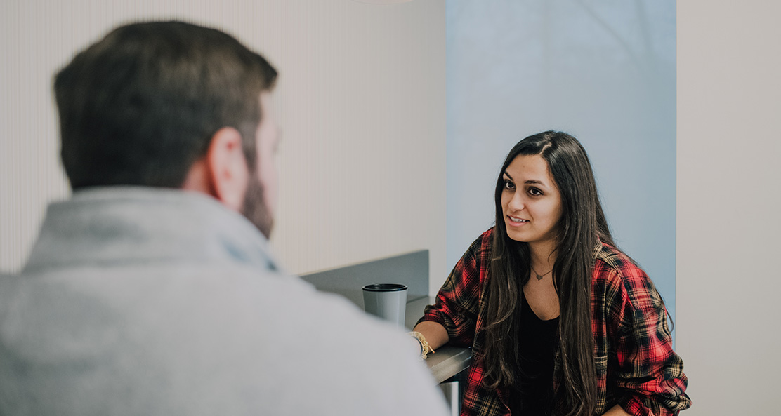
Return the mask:
<path id="1" fill-rule="evenodd" d="M 589 152 L 617 243 L 674 316 L 676 3 L 448 0 L 447 14 L 448 268 L 492 226 L 512 145 L 564 130 Z"/>

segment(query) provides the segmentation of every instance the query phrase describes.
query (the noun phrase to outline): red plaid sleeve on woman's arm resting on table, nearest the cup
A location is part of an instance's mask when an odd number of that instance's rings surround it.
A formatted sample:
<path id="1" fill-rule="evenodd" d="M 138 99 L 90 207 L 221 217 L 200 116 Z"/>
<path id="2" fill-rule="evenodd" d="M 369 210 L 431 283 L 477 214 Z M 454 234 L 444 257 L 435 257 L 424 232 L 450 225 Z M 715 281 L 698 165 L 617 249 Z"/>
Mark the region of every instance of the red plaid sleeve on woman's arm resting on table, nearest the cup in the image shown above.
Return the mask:
<path id="1" fill-rule="evenodd" d="M 480 308 L 480 279 L 485 274 L 483 251 L 488 250 L 490 231 L 469 246 L 444 285 L 433 305 L 426 306 L 419 322 L 439 322 L 448 330 L 449 343 L 472 347 Z"/>

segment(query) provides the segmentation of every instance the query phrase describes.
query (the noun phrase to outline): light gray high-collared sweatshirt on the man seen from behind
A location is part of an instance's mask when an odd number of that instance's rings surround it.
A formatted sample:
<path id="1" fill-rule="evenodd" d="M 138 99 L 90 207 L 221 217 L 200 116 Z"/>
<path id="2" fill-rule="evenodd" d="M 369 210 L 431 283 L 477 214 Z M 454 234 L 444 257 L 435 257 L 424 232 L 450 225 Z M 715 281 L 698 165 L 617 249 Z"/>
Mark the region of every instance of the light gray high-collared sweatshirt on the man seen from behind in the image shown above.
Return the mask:
<path id="1" fill-rule="evenodd" d="M 445 414 L 411 346 L 180 190 L 51 204 L 23 272 L 0 276 L 0 414 Z"/>

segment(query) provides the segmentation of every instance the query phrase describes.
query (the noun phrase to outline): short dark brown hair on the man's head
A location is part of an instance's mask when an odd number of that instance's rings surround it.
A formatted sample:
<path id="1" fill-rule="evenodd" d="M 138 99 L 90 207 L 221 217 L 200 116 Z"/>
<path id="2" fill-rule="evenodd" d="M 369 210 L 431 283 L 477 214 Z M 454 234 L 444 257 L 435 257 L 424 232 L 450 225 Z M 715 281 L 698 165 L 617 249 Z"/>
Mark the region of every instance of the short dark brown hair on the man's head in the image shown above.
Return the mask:
<path id="1" fill-rule="evenodd" d="M 222 127 L 255 169 L 259 96 L 276 70 L 219 30 L 182 22 L 118 27 L 55 75 L 62 164 L 76 190 L 181 187 Z"/>

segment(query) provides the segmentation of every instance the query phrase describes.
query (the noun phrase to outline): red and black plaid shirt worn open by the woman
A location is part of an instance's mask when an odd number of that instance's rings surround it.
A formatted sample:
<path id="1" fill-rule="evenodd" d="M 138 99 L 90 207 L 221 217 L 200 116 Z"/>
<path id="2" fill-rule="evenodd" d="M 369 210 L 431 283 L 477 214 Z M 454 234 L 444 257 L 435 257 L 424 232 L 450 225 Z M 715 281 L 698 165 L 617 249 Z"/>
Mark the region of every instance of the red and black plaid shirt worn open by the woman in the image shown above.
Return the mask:
<path id="1" fill-rule="evenodd" d="M 475 240 L 426 307 L 421 321 L 444 325 L 453 345 L 472 347 L 462 416 L 509 415 L 509 389 L 484 389 L 483 288 L 490 256 L 489 229 Z M 591 280 L 597 407 L 602 414 L 619 404 L 629 414 L 672 415 L 690 407 L 683 361 L 672 350 L 665 308 L 651 279 L 625 254 L 601 244 L 594 250 Z M 558 374 L 558 355 L 555 374 Z M 554 380 L 554 382 L 557 382 Z"/>

